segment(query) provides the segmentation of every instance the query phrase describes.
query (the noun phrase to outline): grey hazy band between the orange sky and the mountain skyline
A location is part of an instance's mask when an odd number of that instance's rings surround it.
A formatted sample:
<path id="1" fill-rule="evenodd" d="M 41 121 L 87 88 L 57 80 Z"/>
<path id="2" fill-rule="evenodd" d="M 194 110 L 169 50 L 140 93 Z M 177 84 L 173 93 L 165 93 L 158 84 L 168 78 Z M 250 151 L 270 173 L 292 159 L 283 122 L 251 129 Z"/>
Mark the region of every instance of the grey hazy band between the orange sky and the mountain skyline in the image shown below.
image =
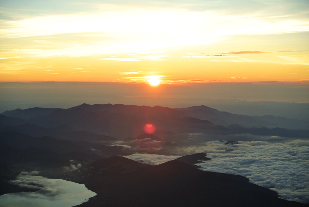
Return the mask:
<path id="1" fill-rule="evenodd" d="M 309 120 L 307 83 L 103 82 L 0 83 L 0 111 L 32 107 L 70 108 L 87 104 L 125 104 L 182 108 L 205 105 L 245 115 L 274 115 Z"/>

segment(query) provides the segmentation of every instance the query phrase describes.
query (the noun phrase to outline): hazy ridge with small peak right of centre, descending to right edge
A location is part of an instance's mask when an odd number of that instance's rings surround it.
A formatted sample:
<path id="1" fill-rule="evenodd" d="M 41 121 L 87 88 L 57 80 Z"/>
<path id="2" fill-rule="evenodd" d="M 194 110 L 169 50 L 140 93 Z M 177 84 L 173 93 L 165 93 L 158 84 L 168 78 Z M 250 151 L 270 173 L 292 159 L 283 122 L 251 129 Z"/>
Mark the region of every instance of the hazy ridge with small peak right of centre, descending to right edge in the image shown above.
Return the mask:
<path id="1" fill-rule="evenodd" d="M 241 114 L 231 114 L 225 111 L 218 111 L 208 106 L 192 106 L 188 108 L 176 108 L 188 114 L 188 116 L 198 119 L 205 119 L 214 124 L 221 124 L 225 127 L 231 124 L 239 124 L 246 128 L 249 127 L 268 127 L 268 128 L 287 128 L 287 129 L 309 129 L 309 122 L 285 117 L 248 116 Z"/>

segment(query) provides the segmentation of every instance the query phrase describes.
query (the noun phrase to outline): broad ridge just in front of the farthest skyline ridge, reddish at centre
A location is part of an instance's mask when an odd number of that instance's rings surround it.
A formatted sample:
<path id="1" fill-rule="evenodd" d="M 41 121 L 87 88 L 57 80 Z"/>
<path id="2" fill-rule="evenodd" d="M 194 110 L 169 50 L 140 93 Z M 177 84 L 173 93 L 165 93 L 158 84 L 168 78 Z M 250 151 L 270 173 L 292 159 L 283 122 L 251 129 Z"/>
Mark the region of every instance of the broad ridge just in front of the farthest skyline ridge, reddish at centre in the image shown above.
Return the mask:
<path id="1" fill-rule="evenodd" d="M 82 105 L 81 105 L 82 106 Z M 91 105 L 87 105 L 90 107 Z M 114 105 L 112 105 L 114 106 Z M 125 105 L 121 105 L 123 107 Z M 133 106 L 132 106 L 133 107 Z M 138 109 L 139 106 L 133 108 Z M 146 106 L 145 106 L 146 107 Z M 173 113 L 167 113 L 166 107 L 146 107 L 151 109 L 149 114 L 144 114 L 145 119 L 136 117 L 135 115 L 127 115 L 122 113 L 111 113 L 109 111 L 85 111 L 84 107 L 74 107 L 68 110 L 56 110 L 52 113 L 29 119 L 29 123 L 34 123 L 42 127 L 56 127 L 67 125 L 74 131 L 85 130 L 94 133 L 102 133 L 108 136 L 116 137 L 135 137 L 142 134 L 142 127 L 146 123 L 153 123 L 158 130 L 165 130 L 178 133 L 231 133 L 232 131 L 223 126 L 216 126 L 207 120 L 201 120 L 192 117 L 178 117 Z M 141 109 L 144 107 L 141 106 Z M 159 110 L 157 113 L 156 110 Z M 160 110 L 163 112 L 160 112 Z M 175 110 L 172 110 L 175 112 Z M 145 113 L 146 113 L 145 112 Z M 159 115 L 161 113 L 161 115 Z"/>

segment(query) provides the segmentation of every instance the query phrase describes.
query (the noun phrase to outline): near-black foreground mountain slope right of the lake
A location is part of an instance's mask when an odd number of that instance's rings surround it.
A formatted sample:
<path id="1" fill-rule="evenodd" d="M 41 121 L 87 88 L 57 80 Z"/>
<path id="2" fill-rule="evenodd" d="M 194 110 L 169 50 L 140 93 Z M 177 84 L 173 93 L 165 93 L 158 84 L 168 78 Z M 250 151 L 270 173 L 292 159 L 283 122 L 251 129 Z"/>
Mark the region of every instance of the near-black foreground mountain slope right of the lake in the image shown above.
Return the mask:
<path id="1" fill-rule="evenodd" d="M 198 170 L 176 160 L 146 166 L 113 156 L 90 163 L 72 181 L 86 184 L 97 193 L 78 205 L 81 207 L 307 206 L 280 199 L 276 192 L 258 185 Z"/>

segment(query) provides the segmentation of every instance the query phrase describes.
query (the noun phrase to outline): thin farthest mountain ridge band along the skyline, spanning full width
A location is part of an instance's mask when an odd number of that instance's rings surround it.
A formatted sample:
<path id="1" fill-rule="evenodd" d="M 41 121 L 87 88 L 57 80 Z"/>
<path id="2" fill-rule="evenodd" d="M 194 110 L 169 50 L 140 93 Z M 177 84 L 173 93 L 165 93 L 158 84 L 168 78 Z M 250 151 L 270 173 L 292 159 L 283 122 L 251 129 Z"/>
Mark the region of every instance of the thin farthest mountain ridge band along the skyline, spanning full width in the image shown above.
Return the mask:
<path id="1" fill-rule="evenodd" d="M 110 113 L 121 113 L 131 115 L 142 120 L 164 119 L 169 116 L 177 117 L 194 117 L 198 119 L 208 120 L 216 125 L 229 126 L 231 124 L 240 124 L 246 128 L 250 127 L 267 127 L 267 128 L 286 128 L 286 129 L 309 129 L 309 122 L 303 120 L 287 119 L 285 117 L 275 117 L 272 115 L 265 116 L 248 116 L 241 114 L 231 114 L 229 112 L 219 111 L 208 106 L 192 106 L 188 108 L 171 109 L 162 106 L 134 106 L 123 104 L 82 104 L 69 109 L 59 108 L 29 108 L 25 110 L 16 109 L 5 111 L 2 115 L 31 119 L 39 116 L 48 115 L 56 110 L 76 110 L 89 111 L 94 113 L 102 113 L 109 111 Z M 43 123 L 42 123 L 43 124 Z M 43 126 L 43 125 L 42 125 Z"/>

